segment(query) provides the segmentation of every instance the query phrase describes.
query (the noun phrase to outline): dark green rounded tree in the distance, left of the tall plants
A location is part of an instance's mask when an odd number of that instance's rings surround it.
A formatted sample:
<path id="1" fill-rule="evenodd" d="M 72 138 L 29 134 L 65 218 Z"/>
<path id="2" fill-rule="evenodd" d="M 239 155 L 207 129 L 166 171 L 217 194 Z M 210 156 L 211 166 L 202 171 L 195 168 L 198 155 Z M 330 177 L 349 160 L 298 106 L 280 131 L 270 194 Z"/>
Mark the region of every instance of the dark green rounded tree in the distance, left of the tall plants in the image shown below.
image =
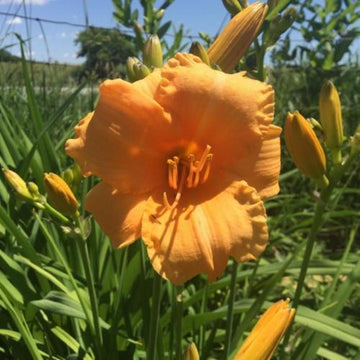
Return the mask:
<path id="1" fill-rule="evenodd" d="M 77 74 L 79 78 L 124 76 L 127 58 L 135 55 L 132 38 L 116 28 L 86 28 L 79 32 L 75 43 L 80 46 L 78 56 L 85 57 L 83 68 Z"/>

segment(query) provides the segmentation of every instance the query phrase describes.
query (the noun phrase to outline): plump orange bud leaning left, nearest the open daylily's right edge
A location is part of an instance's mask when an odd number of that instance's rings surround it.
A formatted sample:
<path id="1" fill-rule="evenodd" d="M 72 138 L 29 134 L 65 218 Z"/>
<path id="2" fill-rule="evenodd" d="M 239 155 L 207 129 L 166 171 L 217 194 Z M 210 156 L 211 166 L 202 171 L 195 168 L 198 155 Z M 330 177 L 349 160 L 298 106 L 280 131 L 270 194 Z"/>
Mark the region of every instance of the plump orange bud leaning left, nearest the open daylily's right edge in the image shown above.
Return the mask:
<path id="1" fill-rule="evenodd" d="M 285 121 L 286 147 L 296 166 L 306 176 L 326 186 L 326 158 L 310 123 L 298 112 L 288 114 Z"/>

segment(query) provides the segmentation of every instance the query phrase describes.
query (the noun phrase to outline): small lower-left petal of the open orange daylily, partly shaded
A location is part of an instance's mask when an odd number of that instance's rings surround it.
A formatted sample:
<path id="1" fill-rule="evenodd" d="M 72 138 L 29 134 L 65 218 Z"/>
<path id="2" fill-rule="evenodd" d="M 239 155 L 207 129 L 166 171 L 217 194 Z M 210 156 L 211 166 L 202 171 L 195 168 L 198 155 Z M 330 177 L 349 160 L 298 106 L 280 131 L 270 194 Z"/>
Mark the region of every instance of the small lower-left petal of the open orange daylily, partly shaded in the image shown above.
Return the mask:
<path id="1" fill-rule="evenodd" d="M 122 194 L 101 182 L 87 195 L 90 211 L 114 247 L 132 244 L 141 236 L 141 219 L 148 195 Z"/>

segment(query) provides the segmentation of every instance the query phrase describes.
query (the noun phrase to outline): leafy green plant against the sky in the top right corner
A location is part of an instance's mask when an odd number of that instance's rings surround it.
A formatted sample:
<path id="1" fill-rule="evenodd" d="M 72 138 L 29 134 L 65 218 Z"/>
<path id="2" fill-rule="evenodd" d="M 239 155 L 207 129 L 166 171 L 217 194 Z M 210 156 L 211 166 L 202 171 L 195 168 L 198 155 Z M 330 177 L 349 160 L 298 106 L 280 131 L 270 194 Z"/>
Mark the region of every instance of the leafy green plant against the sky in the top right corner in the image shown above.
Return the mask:
<path id="1" fill-rule="evenodd" d="M 298 4 L 296 27 L 304 43 L 294 46 L 288 35 L 273 53 L 276 62 L 297 61 L 318 70 L 332 70 L 349 61 L 351 44 L 359 37 L 360 4 L 349 0 L 293 1 Z"/>

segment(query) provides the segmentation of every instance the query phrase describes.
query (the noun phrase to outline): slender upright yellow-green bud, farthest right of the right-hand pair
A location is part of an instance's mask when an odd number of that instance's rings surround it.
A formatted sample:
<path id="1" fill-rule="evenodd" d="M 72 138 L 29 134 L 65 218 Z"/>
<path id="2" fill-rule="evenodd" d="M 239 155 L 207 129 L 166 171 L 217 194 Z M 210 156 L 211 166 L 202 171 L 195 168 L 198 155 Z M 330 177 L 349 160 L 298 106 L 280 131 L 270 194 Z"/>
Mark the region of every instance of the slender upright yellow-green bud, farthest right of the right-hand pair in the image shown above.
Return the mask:
<path id="1" fill-rule="evenodd" d="M 340 98 L 331 81 L 327 81 L 321 88 L 319 110 L 326 145 L 331 151 L 334 162 L 339 164 L 344 134 Z"/>

